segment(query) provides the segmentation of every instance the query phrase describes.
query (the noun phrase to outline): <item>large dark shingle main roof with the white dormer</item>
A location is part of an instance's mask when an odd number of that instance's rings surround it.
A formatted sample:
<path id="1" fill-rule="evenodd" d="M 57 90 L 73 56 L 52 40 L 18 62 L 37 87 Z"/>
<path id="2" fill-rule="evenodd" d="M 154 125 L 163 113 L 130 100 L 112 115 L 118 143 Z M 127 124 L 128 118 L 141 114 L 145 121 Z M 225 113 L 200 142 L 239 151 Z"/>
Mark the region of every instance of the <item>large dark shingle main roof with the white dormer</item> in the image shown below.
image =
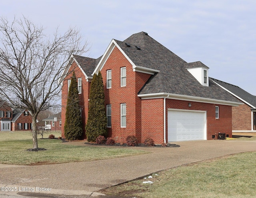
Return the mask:
<path id="1" fill-rule="evenodd" d="M 115 41 L 136 66 L 160 70 L 139 94 L 170 93 L 239 102 L 213 82 L 209 82 L 209 86 L 202 86 L 186 69 L 198 66 L 208 68 L 202 62 L 185 62 L 144 32 L 133 34 L 123 42 Z M 125 43 L 129 43 L 130 47 Z M 135 46 L 140 46 L 140 50 Z"/>

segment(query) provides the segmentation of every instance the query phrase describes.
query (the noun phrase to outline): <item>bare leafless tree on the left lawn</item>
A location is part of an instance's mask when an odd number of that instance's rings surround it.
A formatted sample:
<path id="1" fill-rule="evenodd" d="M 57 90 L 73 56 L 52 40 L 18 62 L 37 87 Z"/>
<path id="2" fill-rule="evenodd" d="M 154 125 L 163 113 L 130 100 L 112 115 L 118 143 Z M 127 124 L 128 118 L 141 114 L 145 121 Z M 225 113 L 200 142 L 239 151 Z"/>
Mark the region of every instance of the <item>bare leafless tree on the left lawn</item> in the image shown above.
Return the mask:
<path id="1" fill-rule="evenodd" d="M 63 35 L 58 28 L 52 36 L 44 31 L 25 17 L 12 22 L 0 17 L 0 97 L 15 108 L 30 110 L 34 149 L 38 148 L 38 113 L 60 100 L 58 79 L 69 56 L 88 50 L 76 28 L 69 28 Z"/>

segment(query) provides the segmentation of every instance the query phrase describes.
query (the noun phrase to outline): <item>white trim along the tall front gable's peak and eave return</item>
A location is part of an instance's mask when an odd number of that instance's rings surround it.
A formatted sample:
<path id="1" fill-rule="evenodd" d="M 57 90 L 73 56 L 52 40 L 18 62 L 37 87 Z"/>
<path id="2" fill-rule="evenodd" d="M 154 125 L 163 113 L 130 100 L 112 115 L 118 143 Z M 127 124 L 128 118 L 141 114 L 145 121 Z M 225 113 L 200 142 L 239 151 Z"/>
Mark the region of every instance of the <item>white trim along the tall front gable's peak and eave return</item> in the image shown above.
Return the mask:
<path id="1" fill-rule="evenodd" d="M 134 72 L 142 72 L 142 73 L 152 74 L 152 75 L 155 74 L 156 72 L 160 72 L 160 70 L 154 70 L 154 69 L 150 69 L 150 68 L 146 68 L 146 67 L 135 65 L 134 62 L 132 62 L 132 60 L 126 55 L 126 53 L 124 53 L 122 48 L 116 43 L 116 41 L 114 39 L 112 39 L 112 41 L 108 45 L 108 48 L 106 49 L 106 51 L 104 52 L 102 58 L 100 59 L 100 62 L 98 63 L 98 65 L 96 66 L 94 72 L 92 73 L 92 76 L 95 73 L 97 74 L 99 70 L 102 70 L 104 64 L 108 60 L 108 57 L 110 56 L 110 54 L 114 50 L 115 46 L 118 48 L 118 50 L 120 50 L 120 52 L 124 55 L 124 57 L 130 62 Z"/>

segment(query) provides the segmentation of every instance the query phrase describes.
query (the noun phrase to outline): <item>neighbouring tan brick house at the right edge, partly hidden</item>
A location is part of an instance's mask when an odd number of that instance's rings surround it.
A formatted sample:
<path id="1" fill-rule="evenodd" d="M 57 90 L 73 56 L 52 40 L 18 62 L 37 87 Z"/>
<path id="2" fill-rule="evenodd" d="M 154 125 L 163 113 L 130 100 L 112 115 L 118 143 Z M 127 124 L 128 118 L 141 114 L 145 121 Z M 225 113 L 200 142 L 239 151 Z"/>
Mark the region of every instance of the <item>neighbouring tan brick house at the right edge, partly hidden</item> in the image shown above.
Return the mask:
<path id="1" fill-rule="evenodd" d="M 214 78 L 211 80 L 244 103 L 232 107 L 233 132 L 256 132 L 256 96 L 238 86 Z"/>

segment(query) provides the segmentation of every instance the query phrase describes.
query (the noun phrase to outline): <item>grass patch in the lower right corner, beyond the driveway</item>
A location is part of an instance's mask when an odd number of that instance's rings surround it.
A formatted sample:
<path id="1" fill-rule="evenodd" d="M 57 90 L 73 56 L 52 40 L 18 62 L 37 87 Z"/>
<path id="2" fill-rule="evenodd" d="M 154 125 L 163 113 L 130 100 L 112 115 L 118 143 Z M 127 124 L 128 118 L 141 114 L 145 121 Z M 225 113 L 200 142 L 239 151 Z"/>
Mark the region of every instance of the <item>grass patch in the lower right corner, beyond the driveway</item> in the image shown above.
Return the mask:
<path id="1" fill-rule="evenodd" d="M 255 198 L 256 152 L 179 166 L 101 192 L 136 198 Z M 153 184 L 143 184 L 152 181 Z"/>

